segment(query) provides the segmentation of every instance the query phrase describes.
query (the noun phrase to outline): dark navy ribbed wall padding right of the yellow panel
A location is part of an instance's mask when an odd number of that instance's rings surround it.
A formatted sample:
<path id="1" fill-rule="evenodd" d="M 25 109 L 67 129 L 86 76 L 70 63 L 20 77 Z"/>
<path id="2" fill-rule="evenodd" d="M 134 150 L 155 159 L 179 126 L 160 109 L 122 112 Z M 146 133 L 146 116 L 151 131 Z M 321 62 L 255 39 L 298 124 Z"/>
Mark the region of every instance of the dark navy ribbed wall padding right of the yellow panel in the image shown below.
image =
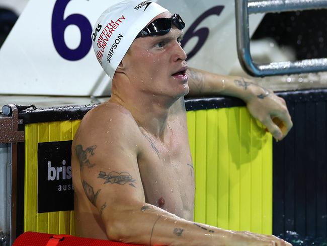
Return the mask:
<path id="1" fill-rule="evenodd" d="M 273 143 L 273 233 L 326 237 L 326 90 L 281 93 L 294 123 Z"/>

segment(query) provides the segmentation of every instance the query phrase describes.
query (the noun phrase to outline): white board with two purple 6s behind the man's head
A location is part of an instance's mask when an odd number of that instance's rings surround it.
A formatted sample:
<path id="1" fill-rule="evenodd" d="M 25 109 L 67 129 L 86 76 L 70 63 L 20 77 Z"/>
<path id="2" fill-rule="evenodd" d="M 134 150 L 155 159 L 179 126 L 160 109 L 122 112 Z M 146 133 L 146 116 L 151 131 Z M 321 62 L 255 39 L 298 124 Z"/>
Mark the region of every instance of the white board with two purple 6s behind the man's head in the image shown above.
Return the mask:
<path id="1" fill-rule="evenodd" d="M 91 48 L 101 13 L 120 0 L 30 0 L 0 49 L 0 94 L 102 96 L 110 79 Z M 140 0 L 140 3 L 143 1 Z M 234 1 L 153 1 L 179 13 L 191 67 L 228 74 L 237 60 Z M 252 15 L 252 31 L 262 15 Z"/>

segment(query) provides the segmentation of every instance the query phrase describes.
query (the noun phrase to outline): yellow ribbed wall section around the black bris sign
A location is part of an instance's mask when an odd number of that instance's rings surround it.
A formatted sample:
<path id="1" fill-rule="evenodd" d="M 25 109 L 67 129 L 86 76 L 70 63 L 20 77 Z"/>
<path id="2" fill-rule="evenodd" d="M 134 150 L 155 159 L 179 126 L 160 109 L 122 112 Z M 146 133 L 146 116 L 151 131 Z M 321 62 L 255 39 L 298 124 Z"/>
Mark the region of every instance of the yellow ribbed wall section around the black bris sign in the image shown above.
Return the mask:
<path id="1" fill-rule="evenodd" d="M 24 231 L 74 234 L 73 211 L 37 213 L 38 143 L 72 140 L 80 120 L 56 121 L 25 126 Z"/>

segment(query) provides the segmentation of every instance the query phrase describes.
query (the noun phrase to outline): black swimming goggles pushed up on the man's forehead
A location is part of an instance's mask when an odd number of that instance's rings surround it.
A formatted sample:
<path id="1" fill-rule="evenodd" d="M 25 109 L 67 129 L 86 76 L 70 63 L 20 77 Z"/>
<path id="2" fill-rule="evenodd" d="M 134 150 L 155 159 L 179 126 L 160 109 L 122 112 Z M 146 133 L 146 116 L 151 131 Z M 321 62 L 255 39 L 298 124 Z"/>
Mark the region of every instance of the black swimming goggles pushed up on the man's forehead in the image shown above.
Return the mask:
<path id="1" fill-rule="evenodd" d="M 179 14 L 174 14 L 172 18 L 158 18 L 147 25 L 136 38 L 145 36 L 165 35 L 172 29 L 172 24 L 178 29 L 182 30 L 185 27 L 185 23 Z"/>

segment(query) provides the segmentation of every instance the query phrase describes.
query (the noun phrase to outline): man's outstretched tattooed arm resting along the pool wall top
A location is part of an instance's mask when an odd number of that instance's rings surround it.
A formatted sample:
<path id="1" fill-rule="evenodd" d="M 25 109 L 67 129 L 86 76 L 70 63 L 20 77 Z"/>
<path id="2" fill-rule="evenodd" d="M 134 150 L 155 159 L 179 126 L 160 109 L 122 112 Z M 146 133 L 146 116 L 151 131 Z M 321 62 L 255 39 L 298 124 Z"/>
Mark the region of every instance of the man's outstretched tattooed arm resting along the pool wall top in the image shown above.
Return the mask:
<path id="1" fill-rule="evenodd" d="M 190 68 L 188 96 L 234 96 L 243 100 L 253 117 L 268 129 L 276 140 L 282 140 L 293 123 L 286 102 L 273 91 L 241 77 L 222 76 Z"/>

